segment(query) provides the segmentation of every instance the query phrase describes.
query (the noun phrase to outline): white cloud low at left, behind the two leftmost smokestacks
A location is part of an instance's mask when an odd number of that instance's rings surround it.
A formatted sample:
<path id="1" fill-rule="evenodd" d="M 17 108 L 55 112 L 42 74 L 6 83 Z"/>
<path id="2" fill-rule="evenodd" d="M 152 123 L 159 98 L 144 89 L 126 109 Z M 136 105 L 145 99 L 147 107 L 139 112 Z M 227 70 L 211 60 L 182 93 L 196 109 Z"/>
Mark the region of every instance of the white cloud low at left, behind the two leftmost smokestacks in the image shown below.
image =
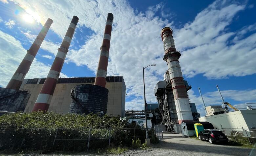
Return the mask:
<path id="1" fill-rule="evenodd" d="M 0 86 L 5 87 L 25 56 L 26 50 L 18 40 L 2 31 L 0 31 L 0 50 Z M 25 78 L 46 77 L 50 68 L 50 65 L 45 65 L 35 59 Z M 60 75 L 61 77 L 67 77 L 62 73 Z"/>

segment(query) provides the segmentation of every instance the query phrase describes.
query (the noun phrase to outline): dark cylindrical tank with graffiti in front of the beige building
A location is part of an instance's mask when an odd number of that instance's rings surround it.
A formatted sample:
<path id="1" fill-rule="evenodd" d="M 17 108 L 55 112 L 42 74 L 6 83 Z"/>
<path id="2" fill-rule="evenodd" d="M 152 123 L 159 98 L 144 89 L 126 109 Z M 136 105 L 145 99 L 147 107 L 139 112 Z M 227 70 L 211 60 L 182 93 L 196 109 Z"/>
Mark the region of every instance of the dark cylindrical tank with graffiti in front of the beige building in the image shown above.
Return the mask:
<path id="1" fill-rule="evenodd" d="M 108 89 L 97 85 L 77 85 L 71 91 L 72 102 L 69 113 L 98 114 L 107 113 Z"/>

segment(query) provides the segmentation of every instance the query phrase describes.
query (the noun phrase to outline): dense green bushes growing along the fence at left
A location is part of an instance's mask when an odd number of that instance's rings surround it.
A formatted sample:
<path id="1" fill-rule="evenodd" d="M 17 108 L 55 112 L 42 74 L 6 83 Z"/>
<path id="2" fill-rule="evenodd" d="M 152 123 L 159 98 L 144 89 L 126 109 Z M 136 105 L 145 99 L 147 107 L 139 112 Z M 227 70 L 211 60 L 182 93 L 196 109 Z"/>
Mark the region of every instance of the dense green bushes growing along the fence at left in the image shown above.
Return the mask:
<path id="1" fill-rule="evenodd" d="M 91 130 L 88 127 L 92 127 Z M 0 150 L 81 152 L 87 150 L 91 134 L 89 149 L 96 152 L 106 151 L 109 146 L 109 127 L 111 148 L 108 152 L 119 153 L 126 150 L 126 147 L 134 147 L 132 139 L 137 139 L 137 147 L 146 147 L 140 142 L 145 140 L 145 130 L 138 125 L 129 124 L 127 120 L 120 120 L 120 117 L 61 115 L 39 111 L 0 116 Z M 156 138 L 153 137 L 152 140 Z"/>

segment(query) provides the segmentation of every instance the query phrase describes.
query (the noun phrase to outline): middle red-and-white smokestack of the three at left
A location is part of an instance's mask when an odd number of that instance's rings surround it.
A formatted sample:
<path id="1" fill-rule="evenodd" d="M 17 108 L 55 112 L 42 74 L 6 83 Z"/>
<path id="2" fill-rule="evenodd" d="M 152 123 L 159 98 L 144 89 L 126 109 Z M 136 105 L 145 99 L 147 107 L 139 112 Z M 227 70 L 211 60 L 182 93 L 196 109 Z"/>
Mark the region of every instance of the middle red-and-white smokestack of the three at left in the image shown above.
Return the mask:
<path id="1" fill-rule="evenodd" d="M 59 74 L 61 72 L 62 66 L 64 64 L 64 60 L 68 53 L 68 49 L 69 49 L 72 37 L 75 32 L 77 22 L 78 22 L 78 17 L 73 16 L 72 21 L 69 25 L 69 28 L 66 32 L 66 35 L 60 45 L 60 48 L 58 48 L 58 53 L 53 61 L 53 65 L 47 75 L 47 78 L 37 97 L 37 100 L 35 102 L 35 105 L 32 111 L 37 111 L 37 110 L 48 111 L 50 102 L 53 97 L 53 92 L 59 78 Z"/>

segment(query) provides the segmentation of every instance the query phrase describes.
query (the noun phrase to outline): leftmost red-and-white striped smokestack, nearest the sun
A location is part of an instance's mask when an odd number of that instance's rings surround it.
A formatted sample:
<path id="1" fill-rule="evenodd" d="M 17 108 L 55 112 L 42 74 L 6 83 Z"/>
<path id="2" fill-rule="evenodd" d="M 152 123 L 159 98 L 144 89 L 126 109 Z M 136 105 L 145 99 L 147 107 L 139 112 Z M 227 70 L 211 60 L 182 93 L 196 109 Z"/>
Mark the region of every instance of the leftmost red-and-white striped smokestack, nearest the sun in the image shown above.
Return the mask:
<path id="1" fill-rule="evenodd" d="M 35 41 L 33 42 L 32 46 L 29 50 L 27 50 L 27 54 L 21 61 L 19 67 L 11 77 L 10 82 L 6 86 L 6 88 L 10 89 L 16 89 L 19 90 L 26 74 L 29 71 L 29 68 L 35 58 L 35 55 L 37 54 L 38 49 L 40 48 L 48 30 L 50 29 L 51 25 L 53 23 L 53 20 L 48 18 L 46 23 L 44 24 L 42 30 L 37 35 Z"/>

